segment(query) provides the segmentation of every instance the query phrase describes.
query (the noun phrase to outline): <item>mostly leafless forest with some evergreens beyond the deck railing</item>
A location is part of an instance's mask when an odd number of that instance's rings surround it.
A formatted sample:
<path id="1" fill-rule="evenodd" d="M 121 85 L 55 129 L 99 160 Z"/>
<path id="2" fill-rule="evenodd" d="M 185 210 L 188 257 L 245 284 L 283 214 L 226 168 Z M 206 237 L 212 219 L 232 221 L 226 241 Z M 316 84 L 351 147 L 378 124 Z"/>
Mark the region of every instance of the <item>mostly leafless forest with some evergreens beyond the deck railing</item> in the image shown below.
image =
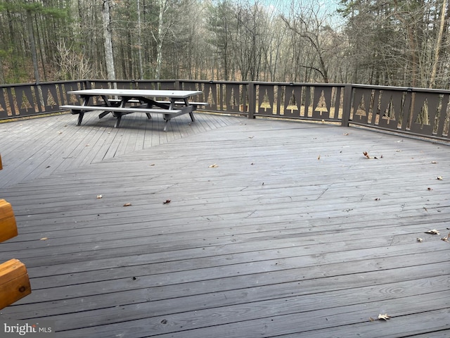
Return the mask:
<path id="1" fill-rule="evenodd" d="M 448 0 L 1 0 L 0 83 L 83 78 L 449 88 Z"/>

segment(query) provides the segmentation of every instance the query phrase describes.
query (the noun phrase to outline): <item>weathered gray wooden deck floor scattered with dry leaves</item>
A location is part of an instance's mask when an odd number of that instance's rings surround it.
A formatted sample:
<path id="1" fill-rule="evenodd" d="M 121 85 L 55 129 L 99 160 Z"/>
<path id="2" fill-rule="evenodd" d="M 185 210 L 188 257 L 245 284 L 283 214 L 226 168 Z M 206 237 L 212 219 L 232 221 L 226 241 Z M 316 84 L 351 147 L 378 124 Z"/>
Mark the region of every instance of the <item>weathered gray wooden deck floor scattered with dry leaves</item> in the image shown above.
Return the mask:
<path id="1" fill-rule="evenodd" d="M 450 337 L 450 146 L 196 116 L 167 133 L 139 115 L 0 124 L 19 227 L 0 261 L 23 261 L 33 289 L 0 320 L 53 320 L 56 337 Z"/>

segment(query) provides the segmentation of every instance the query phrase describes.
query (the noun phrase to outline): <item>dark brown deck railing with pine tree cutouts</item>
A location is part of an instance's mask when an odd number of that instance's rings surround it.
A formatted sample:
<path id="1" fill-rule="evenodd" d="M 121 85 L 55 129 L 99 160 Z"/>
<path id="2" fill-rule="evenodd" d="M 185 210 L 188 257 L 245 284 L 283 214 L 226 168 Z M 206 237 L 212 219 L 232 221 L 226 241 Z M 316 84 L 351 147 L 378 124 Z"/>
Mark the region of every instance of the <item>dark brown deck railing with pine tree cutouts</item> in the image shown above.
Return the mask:
<path id="1" fill-rule="evenodd" d="M 79 104 L 69 90 L 195 89 L 207 111 L 363 125 L 432 139 L 450 139 L 449 90 L 362 84 L 226 82 L 207 80 L 77 80 L 0 86 L 0 120 L 59 112 Z M 196 99 L 197 100 L 197 99 Z"/>

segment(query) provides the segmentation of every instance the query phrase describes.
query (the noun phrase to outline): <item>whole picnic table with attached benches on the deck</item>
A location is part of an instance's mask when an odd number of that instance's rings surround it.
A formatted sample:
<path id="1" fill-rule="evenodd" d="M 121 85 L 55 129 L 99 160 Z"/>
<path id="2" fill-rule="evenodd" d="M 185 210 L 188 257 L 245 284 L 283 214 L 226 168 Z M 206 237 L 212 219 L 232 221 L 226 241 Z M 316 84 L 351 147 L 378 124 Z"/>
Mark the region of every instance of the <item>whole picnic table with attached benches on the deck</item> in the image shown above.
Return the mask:
<path id="1" fill-rule="evenodd" d="M 151 90 L 151 89 L 84 89 L 73 90 L 68 94 L 79 95 L 81 105 L 64 105 L 61 109 L 70 109 L 72 114 L 78 114 L 81 125 L 84 113 L 102 111 L 98 118 L 112 113 L 117 118 L 114 127 L 119 127 L 123 115 L 130 113 L 160 113 L 165 120 L 164 131 L 171 118 L 188 113 L 194 121 L 193 111 L 198 106 L 207 106 L 206 102 L 189 102 L 192 96 L 202 94 L 201 91 L 190 90 Z M 101 98 L 96 100 L 94 98 Z"/>

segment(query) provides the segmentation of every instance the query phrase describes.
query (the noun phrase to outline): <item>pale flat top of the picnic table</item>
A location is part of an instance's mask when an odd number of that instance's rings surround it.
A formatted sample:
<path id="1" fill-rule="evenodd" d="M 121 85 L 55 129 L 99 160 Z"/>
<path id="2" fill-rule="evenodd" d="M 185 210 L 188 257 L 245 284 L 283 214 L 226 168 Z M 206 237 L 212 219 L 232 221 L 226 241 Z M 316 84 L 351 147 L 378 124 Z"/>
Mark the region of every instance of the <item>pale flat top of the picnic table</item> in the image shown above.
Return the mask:
<path id="1" fill-rule="evenodd" d="M 152 89 L 84 89 L 72 90 L 68 94 L 78 95 L 107 95 L 107 96 L 150 96 L 150 97 L 169 97 L 171 99 L 186 99 L 193 95 L 202 94 L 196 90 L 152 90 Z"/>

